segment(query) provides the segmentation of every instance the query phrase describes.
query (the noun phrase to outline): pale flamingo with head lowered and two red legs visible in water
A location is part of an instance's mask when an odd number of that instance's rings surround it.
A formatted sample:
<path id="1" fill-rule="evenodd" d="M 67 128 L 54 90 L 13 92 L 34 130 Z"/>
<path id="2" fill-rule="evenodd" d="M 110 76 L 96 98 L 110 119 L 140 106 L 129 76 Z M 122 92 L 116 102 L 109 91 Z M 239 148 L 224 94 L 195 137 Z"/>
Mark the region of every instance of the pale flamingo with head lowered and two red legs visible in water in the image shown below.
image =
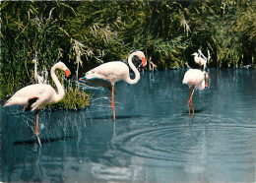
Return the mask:
<path id="1" fill-rule="evenodd" d="M 193 108 L 193 117 L 195 117 L 195 109 L 194 109 L 194 102 L 193 102 L 193 93 L 195 91 L 195 88 L 199 90 L 204 90 L 205 88 L 208 88 L 208 81 L 209 81 L 209 75 L 206 71 L 201 71 L 199 69 L 189 69 L 185 73 L 182 83 L 187 84 L 190 90 L 190 95 L 188 98 L 189 117 L 191 117 L 191 114 L 190 114 L 191 103 Z"/>

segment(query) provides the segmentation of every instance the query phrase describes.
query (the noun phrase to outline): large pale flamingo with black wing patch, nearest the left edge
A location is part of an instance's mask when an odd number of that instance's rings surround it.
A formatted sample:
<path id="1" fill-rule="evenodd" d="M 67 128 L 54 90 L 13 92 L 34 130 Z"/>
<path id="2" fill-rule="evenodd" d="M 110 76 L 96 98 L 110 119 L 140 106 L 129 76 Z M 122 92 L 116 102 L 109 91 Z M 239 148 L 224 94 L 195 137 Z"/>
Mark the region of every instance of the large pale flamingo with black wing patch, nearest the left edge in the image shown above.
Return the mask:
<path id="1" fill-rule="evenodd" d="M 60 101 L 65 95 L 64 88 L 60 84 L 55 74 L 56 69 L 65 71 L 66 77 L 69 77 L 71 72 L 63 62 L 58 62 L 54 64 L 54 66 L 51 68 L 50 75 L 57 87 L 57 92 L 50 85 L 33 84 L 21 89 L 20 91 L 16 91 L 14 95 L 10 99 L 8 99 L 5 103 L 5 106 L 25 105 L 24 107 L 25 111 L 34 112 L 35 114 L 34 134 L 36 136 L 39 147 L 41 146 L 41 144 L 40 144 L 40 139 L 38 137 L 38 130 L 37 130 L 38 107 L 42 104 L 56 103 Z"/>

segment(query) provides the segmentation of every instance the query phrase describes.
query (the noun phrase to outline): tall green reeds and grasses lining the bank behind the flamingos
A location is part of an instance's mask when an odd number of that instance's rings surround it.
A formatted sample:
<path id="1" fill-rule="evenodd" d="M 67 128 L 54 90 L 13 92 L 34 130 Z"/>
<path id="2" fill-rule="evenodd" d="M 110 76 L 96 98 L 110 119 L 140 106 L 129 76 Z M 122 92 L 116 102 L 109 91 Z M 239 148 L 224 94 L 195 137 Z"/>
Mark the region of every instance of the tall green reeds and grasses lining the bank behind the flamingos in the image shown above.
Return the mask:
<path id="1" fill-rule="evenodd" d="M 193 66 L 191 54 L 198 48 L 210 50 L 211 67 L 256 65 L 253 0 L 6 1 L 0 6 L 1 98 L 33 81 L 35 51 L 39 72 L 61 60 L 76 77 L 102 62 L 126 60 L 133 49 L 152 57 L 159 70 Z M 76 97 L 79 91 L 72 90 Z"/>

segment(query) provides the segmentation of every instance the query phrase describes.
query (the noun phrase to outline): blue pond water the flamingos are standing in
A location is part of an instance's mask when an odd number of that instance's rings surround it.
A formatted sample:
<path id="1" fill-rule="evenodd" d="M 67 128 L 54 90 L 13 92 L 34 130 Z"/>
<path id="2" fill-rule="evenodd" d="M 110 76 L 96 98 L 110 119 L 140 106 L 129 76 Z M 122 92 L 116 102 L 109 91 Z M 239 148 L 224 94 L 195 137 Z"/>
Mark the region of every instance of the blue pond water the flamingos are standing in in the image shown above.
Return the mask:
<path id="1" fill-rule="evenodd" d="M 141 73 L 136 85 L 92 88 L 78 111 L 1 107 L 1 181 L 255 182 L 256 70 L 209 69 L 189 118 L 186 69 Z M 133 76 L 131 76 L 133 77 Z"/>

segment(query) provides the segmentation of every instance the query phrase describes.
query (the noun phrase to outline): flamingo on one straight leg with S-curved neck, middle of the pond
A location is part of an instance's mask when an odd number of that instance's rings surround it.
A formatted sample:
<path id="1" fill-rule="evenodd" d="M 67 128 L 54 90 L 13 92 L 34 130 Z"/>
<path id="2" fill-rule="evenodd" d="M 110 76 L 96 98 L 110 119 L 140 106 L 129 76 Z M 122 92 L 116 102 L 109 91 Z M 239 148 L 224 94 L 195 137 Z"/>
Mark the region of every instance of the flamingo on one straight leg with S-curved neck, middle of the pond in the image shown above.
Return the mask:
<path id="1" fill-rule="evenodd" d="M 146 57 L 142 51 L 131 52 L 128 56 L 128 64 L 135 73 L 135 79 L 131 79 L 129 76 L 129 67 L 120 61 L 112 61 L 101 64 L 95 69 L 90 70 L 86 73 L 86 76 L 80 78 L 80 81 L 87 81 L 90 79 L 102 79 L 110 82 L 111 84 L 111 107 L 113 113 L 113 121 L 115 121 L 115 112 L 114 112 L 114 84 L 120 80 L 124 80 L 128 84 L 136 84 L 140 80 L 140 73 L 134 66 L 132 58 L 138 56 L 142 60 L 143 67 L 147 64 Z"/>

